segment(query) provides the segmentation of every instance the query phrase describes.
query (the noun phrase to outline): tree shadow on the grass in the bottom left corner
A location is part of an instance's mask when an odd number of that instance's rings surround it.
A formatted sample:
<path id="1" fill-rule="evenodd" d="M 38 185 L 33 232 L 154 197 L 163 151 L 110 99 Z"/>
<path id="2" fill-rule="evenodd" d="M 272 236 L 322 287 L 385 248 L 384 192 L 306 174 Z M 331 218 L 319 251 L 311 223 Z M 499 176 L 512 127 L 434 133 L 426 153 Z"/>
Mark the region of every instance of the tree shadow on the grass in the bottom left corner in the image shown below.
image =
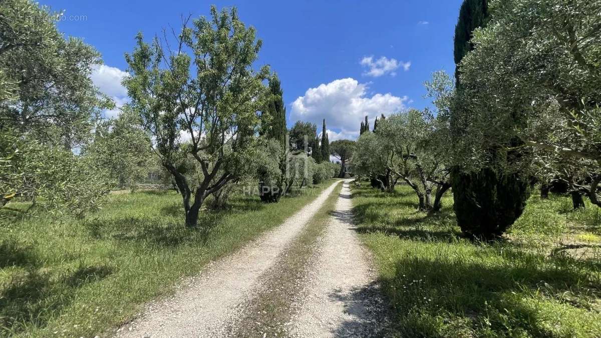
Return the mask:
<path id="1" fill-rule="evenodd" d="M 112 273 L 108 266 L 81 266 L 64 277 L 30 269 L 0 288 L 0 336 L 45 327 L 75 297 L 76 289 Z"/>

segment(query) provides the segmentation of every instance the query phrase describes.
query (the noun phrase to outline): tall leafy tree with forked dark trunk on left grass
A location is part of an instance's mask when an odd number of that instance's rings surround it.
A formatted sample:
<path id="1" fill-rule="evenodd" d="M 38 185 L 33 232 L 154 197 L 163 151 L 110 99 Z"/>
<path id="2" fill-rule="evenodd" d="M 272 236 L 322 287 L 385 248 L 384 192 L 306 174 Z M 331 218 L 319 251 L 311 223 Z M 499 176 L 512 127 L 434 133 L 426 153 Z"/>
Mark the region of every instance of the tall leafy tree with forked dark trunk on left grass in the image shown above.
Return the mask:
<path id="1" fill-rule="evenodd" d="M 207 196 L 235 180 L 249 160 L 267 97 L 269 69 L 252 69 L 261 47 L 255 29 L 245 27 L 235 8 L 212 7 L 211 14 L 191 25 L 186 20 L 174 44 L 158 38 L 148 44 L 138 34 L 135 51 L 126 55 L 124 85 L 182 194 L 189 227 L 197 225 Z M 182 135 L 190 138 L 186 147 Z M 177 170 L 180 158 L 200 167 L 198 184 Z"/>

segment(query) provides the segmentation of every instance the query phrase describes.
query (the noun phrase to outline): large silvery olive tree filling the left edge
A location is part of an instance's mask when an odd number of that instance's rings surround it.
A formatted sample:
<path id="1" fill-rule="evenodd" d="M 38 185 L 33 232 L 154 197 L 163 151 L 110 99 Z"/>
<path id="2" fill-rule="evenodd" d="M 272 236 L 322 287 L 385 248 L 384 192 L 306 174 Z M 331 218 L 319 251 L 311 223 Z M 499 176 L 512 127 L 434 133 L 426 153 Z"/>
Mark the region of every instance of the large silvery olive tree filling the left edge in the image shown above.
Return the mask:
<path id="1" fill-rule="evenodd" d="M 56 28 L 58 13 L 30 0 L 0 2 L 0 207 L 66 207 L 82 216 L 108 192 L 105 171 L 77 150 L 114 104 L 90 74 L 100 54 Z"/>

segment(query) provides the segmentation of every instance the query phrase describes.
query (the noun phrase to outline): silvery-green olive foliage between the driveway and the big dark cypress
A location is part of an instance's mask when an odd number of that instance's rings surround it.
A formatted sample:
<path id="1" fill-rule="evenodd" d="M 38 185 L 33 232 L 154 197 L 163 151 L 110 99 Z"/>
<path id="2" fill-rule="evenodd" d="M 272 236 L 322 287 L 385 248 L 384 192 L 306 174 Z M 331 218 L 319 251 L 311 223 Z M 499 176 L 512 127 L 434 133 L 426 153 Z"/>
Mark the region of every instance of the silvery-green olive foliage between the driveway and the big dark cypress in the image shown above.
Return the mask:
<path id="1" fill-rule="evenodd" d="M 438 209 L 431 194 L 440 192 L 442 196 L 449 185 L 443 132 L 444 124 L 428 109 L 392 114 L 378 121 L 377 132 L 359 137 L 353 168 L 363 176 L 403 180 L 418 195 L 420 209 Z M 389 185 L 394 189 L 394 183 Z"/>

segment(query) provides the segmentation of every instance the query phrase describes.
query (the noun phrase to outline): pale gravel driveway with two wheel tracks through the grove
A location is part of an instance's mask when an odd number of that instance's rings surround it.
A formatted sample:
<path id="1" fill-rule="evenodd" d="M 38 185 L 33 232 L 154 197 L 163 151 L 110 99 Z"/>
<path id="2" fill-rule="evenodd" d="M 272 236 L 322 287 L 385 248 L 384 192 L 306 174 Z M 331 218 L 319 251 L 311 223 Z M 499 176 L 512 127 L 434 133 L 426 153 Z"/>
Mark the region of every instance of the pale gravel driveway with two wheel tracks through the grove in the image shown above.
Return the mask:
<path id="1" fill-rule="evenodd" d="M 362 247 L 352 224 L 349 180 L 343 183 L 335 211 L 326 229 L 314 231 L 305 226 L 328 200 L 333 183 L 313 202 L 288 218 L 281 226 L 245 245 L 224 259 L 210 264 L 189 278 L 169 298 L 148 303 L 140 318 L 117 330 L 117 337 L 373 337 L 385 336 L 389 321 L 370 268 L 370 254 Z M 314 225 L 312 225 L 314 226 Z M 290 321 L 278 330 L 255 331 L 240 327 L 240 315 L 256 309 L 261 290 L 272 287 L 272 275 L 290 275 L 287 254 L 295 242 L 310 243 L 310 254 L 301 257 L 298 281 L 301 286 L 279 292 L 281 303 L 293 309 Z M 277 303 L 278 300 L 275 300 Z M 270 303 L 274 300 L 270 299 Z M 289 304 L 285 304 L 289 303 Z M 260 318 L 260 315 L 258 316 Z M 283 332 L 282 329 L 283 328 Z"/>

